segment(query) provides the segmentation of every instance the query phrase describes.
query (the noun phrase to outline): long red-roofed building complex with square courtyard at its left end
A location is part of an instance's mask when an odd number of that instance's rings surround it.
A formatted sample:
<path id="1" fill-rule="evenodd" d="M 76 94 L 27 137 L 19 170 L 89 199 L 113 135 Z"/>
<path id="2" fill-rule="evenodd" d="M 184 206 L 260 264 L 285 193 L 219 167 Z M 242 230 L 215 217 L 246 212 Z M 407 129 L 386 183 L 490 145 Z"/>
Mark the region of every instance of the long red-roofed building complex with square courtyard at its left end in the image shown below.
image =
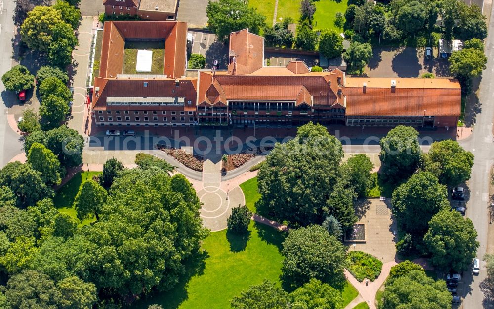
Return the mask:
<path id="1" fill-rule="evenodd" d="M 163 74 L 122 74 L 125 42 L 164 41 Z M 455 127 L 455 79 L 354 78 L 311 72 L 303 61 L 264 66 L 264 39 L 248 29 L 230 36 L 228 70 L 185 77 L 187 25 L 107 22 L 92 110 L 97 125 Z"/>

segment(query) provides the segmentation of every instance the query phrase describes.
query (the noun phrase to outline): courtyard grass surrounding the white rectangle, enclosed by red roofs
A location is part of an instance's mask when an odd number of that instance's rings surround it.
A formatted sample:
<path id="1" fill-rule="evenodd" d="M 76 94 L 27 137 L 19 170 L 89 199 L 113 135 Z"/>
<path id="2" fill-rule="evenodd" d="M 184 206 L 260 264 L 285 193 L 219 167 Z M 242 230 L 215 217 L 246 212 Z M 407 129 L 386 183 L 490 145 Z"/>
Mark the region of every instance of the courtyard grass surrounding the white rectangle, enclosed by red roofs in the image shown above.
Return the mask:
<path id="1" fill-rule="evenodd" d="M 164 42 L 126 42 L 125 43 L 125 54 L 124 54 L 124 68 L 122 74 L 140 74 L 144 72 L 136 71 L 137 63 L 137 50 L 152 50 L 153 51 L 153 61 L 151 64 L 151 72 L 146 72 L 149 74 L 163 74 L 163 67 L 165 65 L 165 43 Z"/>

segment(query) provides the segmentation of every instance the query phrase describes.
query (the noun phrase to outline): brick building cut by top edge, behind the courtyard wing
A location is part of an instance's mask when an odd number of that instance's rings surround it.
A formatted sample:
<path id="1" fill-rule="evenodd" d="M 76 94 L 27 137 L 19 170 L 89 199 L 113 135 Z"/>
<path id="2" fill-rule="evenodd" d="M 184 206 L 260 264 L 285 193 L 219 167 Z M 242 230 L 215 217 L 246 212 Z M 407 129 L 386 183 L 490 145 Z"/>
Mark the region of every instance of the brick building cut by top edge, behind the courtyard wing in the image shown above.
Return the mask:
<path id="1" fill-rule="evenodd" d="M 178 0 L 103 0 L 107 15 L 137 15 L 145 20 L 175 20 Z"/>

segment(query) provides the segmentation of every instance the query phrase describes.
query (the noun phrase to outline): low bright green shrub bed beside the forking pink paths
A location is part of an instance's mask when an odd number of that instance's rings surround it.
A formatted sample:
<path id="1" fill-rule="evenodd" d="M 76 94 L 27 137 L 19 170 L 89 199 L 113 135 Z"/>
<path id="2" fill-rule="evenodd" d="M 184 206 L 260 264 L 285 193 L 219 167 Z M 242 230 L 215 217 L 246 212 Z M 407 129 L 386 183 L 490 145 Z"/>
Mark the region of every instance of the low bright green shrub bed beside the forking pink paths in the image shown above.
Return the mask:
<path id="1" fill-rule="evenodd" d="M 382 262 L 362 251 L 350 251 L 347 255 L 347 270 L 362 282 L 365 278 L 374 281 L 381 273 Z"/>

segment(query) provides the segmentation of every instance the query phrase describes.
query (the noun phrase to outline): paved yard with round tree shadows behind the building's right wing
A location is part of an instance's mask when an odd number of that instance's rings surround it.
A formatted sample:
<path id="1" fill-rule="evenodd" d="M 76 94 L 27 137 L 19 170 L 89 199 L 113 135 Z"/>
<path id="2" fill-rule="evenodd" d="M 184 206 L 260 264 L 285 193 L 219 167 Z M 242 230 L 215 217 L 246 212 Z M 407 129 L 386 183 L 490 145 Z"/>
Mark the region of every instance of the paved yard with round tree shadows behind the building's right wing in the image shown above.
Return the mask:
<path id="1" fill-rule="evenodd" d="M 431 59 L 425 59 L 425 48 L 382 47 L 373 49 L 373 57 L 364 74 L 368 77 L 420 77 L 431 72 L 436 77 L 451 77 L 448 59 L 438 57 L 433 48 Z"/>

